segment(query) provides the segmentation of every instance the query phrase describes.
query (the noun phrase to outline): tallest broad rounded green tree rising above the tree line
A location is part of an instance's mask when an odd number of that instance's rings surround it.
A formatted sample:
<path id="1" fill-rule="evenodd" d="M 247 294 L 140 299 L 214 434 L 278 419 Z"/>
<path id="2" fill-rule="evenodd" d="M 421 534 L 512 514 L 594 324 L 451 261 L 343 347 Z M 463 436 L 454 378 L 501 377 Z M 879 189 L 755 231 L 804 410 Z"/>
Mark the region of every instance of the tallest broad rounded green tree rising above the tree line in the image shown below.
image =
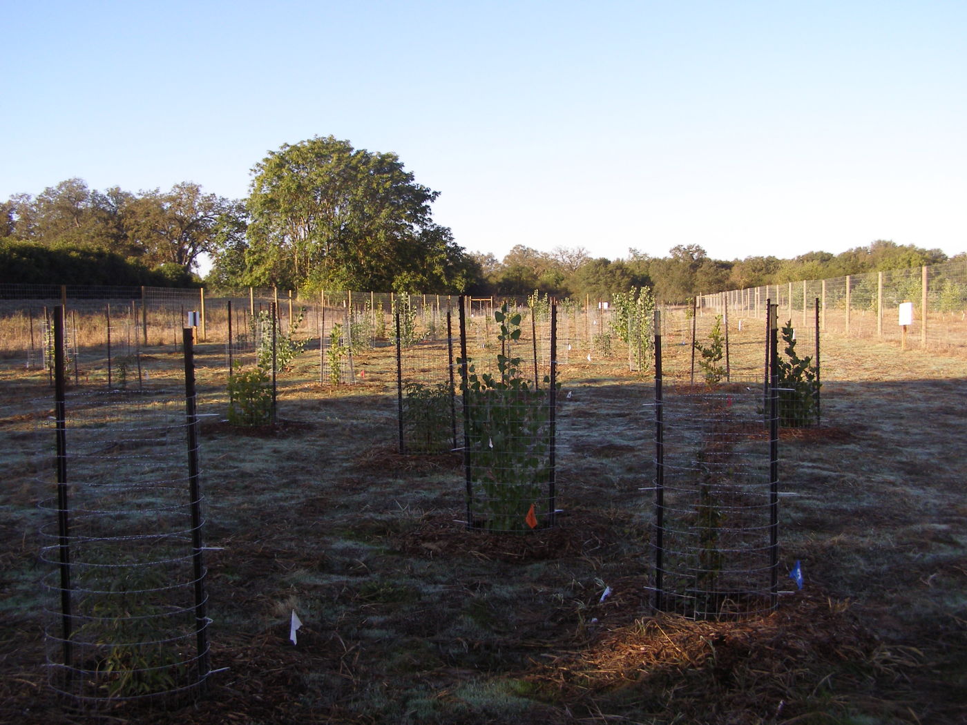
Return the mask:
<path id="1" fill-rule="evenodd" d="M 472 260 L 432 220 L 438 192 L 396 154 L 316 136 L 282 145 L 252 173 L 249 284 L 462 291 L 473 278 Z"/>

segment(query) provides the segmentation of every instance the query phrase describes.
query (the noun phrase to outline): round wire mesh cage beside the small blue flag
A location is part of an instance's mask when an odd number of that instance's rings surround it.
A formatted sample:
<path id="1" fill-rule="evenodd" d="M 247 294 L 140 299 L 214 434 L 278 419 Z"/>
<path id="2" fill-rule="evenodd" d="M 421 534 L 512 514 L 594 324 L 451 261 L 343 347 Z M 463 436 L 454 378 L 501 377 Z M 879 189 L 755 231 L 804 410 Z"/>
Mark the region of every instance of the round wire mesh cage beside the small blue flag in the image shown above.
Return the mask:
<path id="1" fill-rule="evenodd" d="M 745 619 L 771 611 L 777 567 L 775 376 L 768 386 L 762 377 L 697 384 L 681 375 L 677 382 L 673 374 L 666 378 L 657 328 L 654 605 L 692 619 Z"/>

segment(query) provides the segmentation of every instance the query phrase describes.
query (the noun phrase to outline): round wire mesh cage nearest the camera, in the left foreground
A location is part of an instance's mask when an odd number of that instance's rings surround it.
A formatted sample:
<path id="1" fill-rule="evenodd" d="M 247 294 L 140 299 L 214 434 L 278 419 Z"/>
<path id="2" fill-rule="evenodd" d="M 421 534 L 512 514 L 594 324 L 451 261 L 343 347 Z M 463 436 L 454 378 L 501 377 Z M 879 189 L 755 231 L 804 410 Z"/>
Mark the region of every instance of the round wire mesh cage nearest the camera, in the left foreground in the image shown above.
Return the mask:
<path id="1" fill-rule="evenodd" d="M 48 419 L 56 496 L 42 504 L 48 682 L 85 711 L 195 695 L 210 621 L 193 399 L 63 391 Z"/>

